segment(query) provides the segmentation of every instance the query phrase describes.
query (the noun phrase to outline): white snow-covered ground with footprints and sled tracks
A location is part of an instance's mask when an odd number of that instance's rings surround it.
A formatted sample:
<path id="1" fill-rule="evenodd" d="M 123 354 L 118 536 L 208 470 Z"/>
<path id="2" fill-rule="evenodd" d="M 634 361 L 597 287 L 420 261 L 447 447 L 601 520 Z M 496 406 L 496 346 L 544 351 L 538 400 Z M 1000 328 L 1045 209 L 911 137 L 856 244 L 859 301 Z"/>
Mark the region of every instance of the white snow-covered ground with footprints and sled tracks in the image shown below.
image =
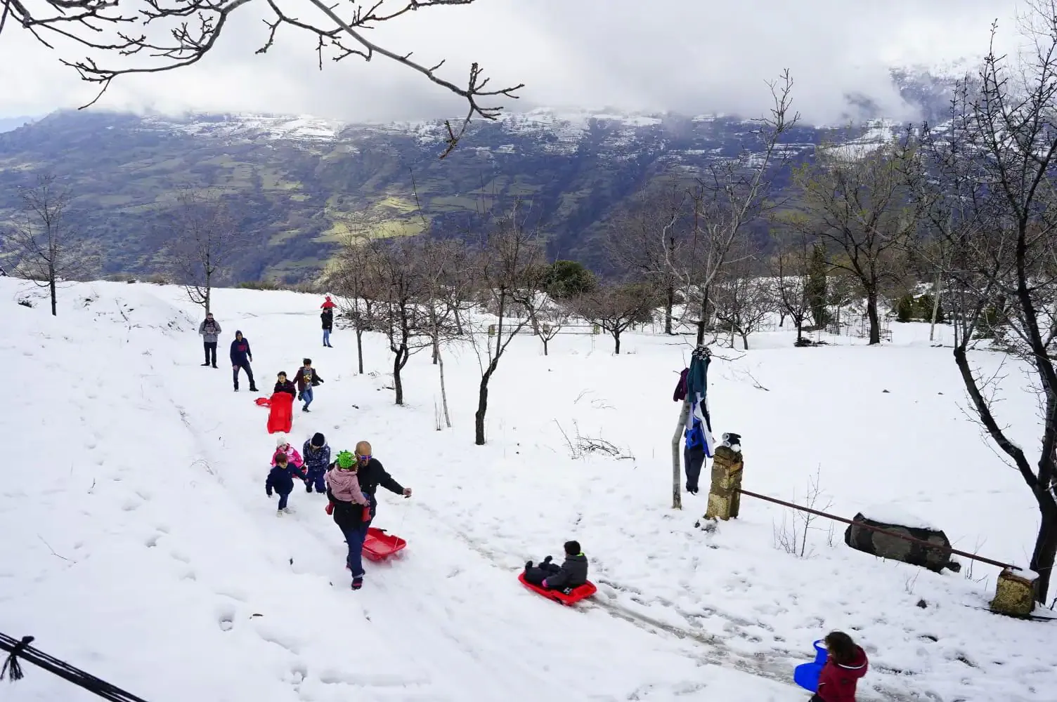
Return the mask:
<path id="1" fill-rule="evenodd" d="M 16 304 L 37 301 L 33 308 Z M 680 340 L 518 339 L 493 380 L 488 445 L 472 443 L 477 358 L 447 352 L 455 428 L 434 429 L 427 354 L 394 406 L 391 359 L 351 331 L 319 340 L 319 299 L 221 290 L 221 369 L 203 368 L 198 310 L 177 288 L 94 283 L 39 292 L 0 279 L 0 631 L 150 702 L 166 700 L 724 700 L 794 702 L 792 669 L 833 628 L 867 649 L 860 700 L 1052 701 L 1057 623 L 983 607 L 997 570 L 938 575 L 884 562 L 815 523 L 806 557 L 775 546 L 792 524 L 744 498 L 739 519 L 693 528 L 705 495 L 669 509 L 671 392 Z M 376 526 L 403 556 L 349 590 L 324 498 L 296 491 L 277 519 L 264 494 L 274 438 L 255 396 L 233 393 L 241 329 L 258 384 L 311 356 L 327 381 L 297 414 L 300 445 L 368 439 L 411 499 L 379 492 Z M 793 348 L 784 331 L 710 372 L 717 432 L 743 435 L 747 490 L 846 516 L 875 504 L 943 528 L 957 547 L 1025 563 L 1037 512 L 1015 471 L 962 412 L 949 349 L 925 325 L 894 343 Z M 977 360 L 994 372 L 998 357 Z M 1035 445 L 1034 396 L 1006 367 L 1003 419 Z M 563 433 L 633 458 L 572 458 Z M 599 593 L 575 609 L 520 587 L 527 558 L 578 538 Z M 917 606 L 924 600 L 925 608 Z M 4 699 L 88 700 L 29 666 Z"/>

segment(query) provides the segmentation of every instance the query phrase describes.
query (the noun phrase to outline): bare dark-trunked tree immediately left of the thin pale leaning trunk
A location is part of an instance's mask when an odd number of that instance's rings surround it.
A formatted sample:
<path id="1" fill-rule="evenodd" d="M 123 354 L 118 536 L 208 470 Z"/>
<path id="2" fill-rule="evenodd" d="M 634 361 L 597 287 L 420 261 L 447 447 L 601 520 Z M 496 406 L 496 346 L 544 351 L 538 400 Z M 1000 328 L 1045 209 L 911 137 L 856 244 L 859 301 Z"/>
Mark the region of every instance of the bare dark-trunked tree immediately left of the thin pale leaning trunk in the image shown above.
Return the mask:
<path id="1" fill-rule="evenodd" d="M 389 340 L 396 404 L 404 404 L 401 372 L 408 359 L 432 346 L 429 315 L 422 305 L 429 290 L 423 259 L 421 245 L 411 239 L 374 239 L 367 245 L 364 284 L 377 295 L 371 326 Z"/>

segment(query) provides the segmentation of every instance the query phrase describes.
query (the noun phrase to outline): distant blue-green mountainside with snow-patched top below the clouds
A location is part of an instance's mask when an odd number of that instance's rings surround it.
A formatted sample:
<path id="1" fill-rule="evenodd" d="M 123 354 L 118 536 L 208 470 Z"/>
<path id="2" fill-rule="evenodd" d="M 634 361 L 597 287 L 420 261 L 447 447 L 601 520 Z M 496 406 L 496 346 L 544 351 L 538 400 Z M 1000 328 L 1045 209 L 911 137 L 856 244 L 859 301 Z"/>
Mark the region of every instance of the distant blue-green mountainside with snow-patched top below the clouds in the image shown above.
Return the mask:
<path id="1" fill-rule="evenodd" d="M 924 115 L 942 110 L 949 78 L 906 71 L 893 79 Z M 62 112 L 0 134 L 0 217 L 15 212 L 15 186 L 57 173 L 76 194 L 75 226 L 104 250 L 105 272 L 147 272 L 165 247 L 159 209 L 183 185 L 209 186 L 229 195 L 244 228 L 260 232 L 237 278 L 299 280 L 318 271 L 349 219 L 379 236 L 418 233 L 424 221 L 433 231 L 461 231 L 482 198 L 500 207 L 522 200 L 553 254 L 592 263 L 606 222 L 644 184 L 693 177 L 739 155 L 755 143 L 754 128 L 731 115 L 541 109 L 479 120 L 438 160 L 441 119 Z M 794 160 L 823 139 L 864 150 L 895 128 L 879 114 L 850 130 L 802 124 L 784 148 Z"/>

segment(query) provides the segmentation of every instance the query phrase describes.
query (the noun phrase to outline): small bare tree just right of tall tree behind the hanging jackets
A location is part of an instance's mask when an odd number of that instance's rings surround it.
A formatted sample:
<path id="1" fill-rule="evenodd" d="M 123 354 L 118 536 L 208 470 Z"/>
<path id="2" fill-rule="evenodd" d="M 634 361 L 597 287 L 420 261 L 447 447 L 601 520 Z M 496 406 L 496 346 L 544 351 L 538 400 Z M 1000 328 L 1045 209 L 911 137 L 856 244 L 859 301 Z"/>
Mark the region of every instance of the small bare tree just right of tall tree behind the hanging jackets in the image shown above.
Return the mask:
<path id="1" fill-rule="evenodd" d="M 760 328 L 777 305 L 772 281 L 759 276 L 759 247 L 746 238 L 737 242 L 731 253 L 712 283 L 717 327 L 730 333 L 731 348 L 737 336 L 748 350 L 748 335 Z"/>

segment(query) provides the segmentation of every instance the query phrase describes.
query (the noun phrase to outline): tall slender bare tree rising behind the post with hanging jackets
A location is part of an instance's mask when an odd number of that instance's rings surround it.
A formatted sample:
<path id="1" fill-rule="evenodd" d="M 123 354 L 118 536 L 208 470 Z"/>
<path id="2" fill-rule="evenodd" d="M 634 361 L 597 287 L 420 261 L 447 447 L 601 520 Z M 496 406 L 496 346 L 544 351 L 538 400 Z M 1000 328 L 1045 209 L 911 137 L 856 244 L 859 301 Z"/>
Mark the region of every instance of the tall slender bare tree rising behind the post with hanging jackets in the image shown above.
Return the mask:
<path id="1" fill-rule="evenodd" d="M 745 145 L 738 158 L 713 165 L 708 175 L 698 178 L 690 192 L 689 239 L 678 255 L 665 254 L 665 262 L 686 288 L 687 299 L 696 292 L 698 344 L 704 343 L 708 326 L 712 283 L 731 247 L 748 235 L 754 222 L 780 204 L 772 196 L 772 182 L 789 160 L 782 139 L 800 114 L 792 109 L 793 78 L 789 71 L 769 88 L 774 107 L 769 116 L 757 120 L 755 143 Z M 660 244 L 665 249 L 665 243 Z"/>

